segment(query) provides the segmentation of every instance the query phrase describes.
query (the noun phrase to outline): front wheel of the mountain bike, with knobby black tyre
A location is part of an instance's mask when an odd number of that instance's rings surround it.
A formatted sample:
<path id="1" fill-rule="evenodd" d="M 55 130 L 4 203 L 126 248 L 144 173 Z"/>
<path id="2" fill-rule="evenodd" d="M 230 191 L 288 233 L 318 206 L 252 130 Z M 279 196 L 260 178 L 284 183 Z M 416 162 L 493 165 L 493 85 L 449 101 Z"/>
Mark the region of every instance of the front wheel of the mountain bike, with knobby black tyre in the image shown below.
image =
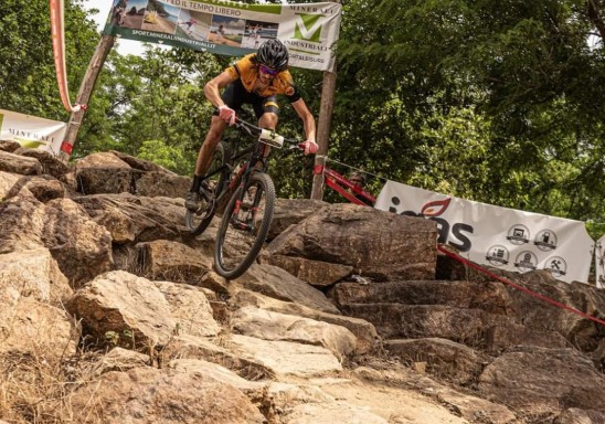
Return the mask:
<path id="1" fill-rule="evenodd" d="M 245 187 L 231 197 L 223 213 L 214 266 L 227 279 L 240 277 L 256 261 L 269 232 L 275 209 L 275 186 L 270 177 L 254 172 Z"/>

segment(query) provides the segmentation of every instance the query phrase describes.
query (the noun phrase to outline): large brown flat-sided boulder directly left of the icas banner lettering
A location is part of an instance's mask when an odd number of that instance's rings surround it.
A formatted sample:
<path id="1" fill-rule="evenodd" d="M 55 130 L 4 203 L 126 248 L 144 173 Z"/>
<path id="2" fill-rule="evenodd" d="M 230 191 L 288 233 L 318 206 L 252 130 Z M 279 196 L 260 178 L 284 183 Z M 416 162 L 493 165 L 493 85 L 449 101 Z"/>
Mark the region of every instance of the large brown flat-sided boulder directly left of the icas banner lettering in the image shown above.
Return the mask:
<path id="1" fill-rule="evenodd" d="M 433 221 L 332 204 L 283 232 L 268 252 L 349 265 L 380 280 L 434 279 L 436 240 Z"/>

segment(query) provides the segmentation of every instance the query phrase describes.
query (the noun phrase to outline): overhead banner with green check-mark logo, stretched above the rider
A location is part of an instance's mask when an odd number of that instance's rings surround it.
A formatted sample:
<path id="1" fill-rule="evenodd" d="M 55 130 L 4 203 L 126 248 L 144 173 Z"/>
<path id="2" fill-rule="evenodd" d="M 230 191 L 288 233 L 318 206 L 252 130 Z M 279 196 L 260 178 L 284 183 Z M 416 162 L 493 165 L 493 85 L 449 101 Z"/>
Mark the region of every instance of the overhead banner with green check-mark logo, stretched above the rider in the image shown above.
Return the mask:
<path id="1" fill-rule="evenodd" d="M 248 4 L 223 0 L 105 0 L 105 34 L 230 56 L 279 39 L 290 66 L 332 71 L 341 6 Z"/>

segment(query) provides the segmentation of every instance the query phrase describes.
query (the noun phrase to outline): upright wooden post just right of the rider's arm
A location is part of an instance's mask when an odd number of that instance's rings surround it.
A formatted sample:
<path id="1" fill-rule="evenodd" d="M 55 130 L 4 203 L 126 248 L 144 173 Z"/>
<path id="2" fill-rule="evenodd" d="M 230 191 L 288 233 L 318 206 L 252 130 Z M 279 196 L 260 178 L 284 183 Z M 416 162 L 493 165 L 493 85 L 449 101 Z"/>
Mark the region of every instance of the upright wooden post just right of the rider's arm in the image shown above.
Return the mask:
<path id="1" fill-rule="evenodd" d="M 336 63 L 332 72 L 323 72 L 323 85 L 321 87 L 321 105 L 319 106 L 319 121 L 317 125 L 317 155 L 315 157 L 314 180 L 311 199 L 323 199 L 323 174 L 315 173 L 315 169 L 326 165 L 328 141 L 330 138 L 330 124 L 335 110 L 336 92 Z"/>

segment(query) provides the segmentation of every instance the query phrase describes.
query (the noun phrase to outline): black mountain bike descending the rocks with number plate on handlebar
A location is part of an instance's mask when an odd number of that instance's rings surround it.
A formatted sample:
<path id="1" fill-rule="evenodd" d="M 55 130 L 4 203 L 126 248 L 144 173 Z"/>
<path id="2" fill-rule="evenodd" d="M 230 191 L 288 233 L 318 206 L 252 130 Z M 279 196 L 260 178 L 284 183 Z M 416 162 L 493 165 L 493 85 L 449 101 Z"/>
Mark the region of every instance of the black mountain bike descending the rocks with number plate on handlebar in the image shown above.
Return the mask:
<path id="1" fill-rule="evenodd" d="M 240 148 L 221 141 L 200 187 L 202 205 L 188 210 L 185 225 L 191 235 L 205 231 L 215 214 L 221 215 L 214 246 L 216 273 L 227 279 L 244 274 L 256 261 L 267 237 L 275 208 L 275 186 L 267 173 L 267 146 L 300 149 L 300 140 L 286 138 L 236 118 L 235 127 L 256 141 Z"/>

